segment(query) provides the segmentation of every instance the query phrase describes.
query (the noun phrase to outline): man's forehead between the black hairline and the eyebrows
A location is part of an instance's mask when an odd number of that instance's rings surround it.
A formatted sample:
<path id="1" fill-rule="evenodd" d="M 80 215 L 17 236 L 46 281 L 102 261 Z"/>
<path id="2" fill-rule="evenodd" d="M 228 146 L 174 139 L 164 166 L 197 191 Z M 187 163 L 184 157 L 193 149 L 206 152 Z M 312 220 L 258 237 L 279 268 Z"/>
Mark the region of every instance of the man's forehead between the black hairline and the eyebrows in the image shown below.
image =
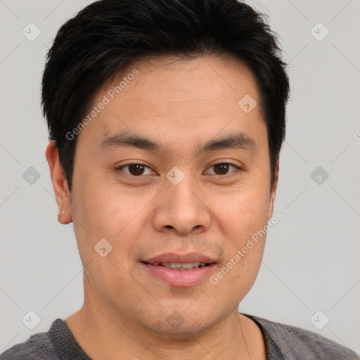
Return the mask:
<path id="1" fill-rule="evenodd" d="M 257 133 L 265 127 L 259 105 L 250 112 L 240 106 L 249 96 L 251 106 L 260 103 L 252 71 L 234 58 L 137 60 L 98 91 L 92 106 L 107 104 L 89 132 L 96 143 L 124 129 L 197 142 L 224 130 Z"/>

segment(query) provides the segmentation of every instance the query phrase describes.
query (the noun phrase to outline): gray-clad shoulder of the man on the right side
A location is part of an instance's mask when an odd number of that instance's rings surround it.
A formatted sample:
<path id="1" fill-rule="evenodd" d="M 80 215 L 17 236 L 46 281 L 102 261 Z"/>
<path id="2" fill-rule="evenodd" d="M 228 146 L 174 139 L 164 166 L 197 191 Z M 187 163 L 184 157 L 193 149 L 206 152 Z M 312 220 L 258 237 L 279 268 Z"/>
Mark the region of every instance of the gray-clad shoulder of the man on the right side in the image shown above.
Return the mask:
<path id="1" fill-rule="evenodd" d="M 261 328 L 271 360 L 360 359 L 359 355 L 351 349 L 312 331 L 253 315 L 243 315 L 250 317 Z"/>

